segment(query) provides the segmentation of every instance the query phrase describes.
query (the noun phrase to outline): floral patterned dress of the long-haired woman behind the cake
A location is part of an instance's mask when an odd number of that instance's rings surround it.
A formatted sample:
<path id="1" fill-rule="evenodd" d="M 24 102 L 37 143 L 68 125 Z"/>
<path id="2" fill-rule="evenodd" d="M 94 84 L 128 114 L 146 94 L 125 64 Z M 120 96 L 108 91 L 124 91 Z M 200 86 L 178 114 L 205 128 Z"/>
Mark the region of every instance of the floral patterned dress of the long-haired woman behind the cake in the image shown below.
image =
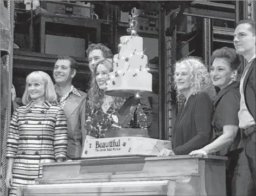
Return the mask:
<path id="1" fill-rule="evenodd" d="M 87 129 L 87 135 L 93 136 L 95 138 L 105 138 L 106 131 L 108 129 L 117 128 L 113 125 L 119 124 L 118 119 L 120 119 L 120 115 L 118 113 L 118 109 L 114 109 L 114 107 L 110 105 L 110 107 L 107 109 L 105 113 L 101 107 L 96 109 L 92 108 L 90 102 L 91 100 L 88 100 L 85 115 L 85 129 Z M 148 128 L 148 125 L 146 123 L 147 117 L 142 107 L 140 106 L 140 104 L 138 104 L 135 107 L 137 107 L 137 128 Z M 127 119 L 129 119 L 129 115 L 131 116 L 131 114 L 133 114 L 133 112 L 126 114 L 127 116 L 121 117 L 127 117 Z M 134 119 L 132 116 L 129 123 L 126 123 L 126 125 L 121 126 L 121 128 L 133 128 L 133 122 Z"/>

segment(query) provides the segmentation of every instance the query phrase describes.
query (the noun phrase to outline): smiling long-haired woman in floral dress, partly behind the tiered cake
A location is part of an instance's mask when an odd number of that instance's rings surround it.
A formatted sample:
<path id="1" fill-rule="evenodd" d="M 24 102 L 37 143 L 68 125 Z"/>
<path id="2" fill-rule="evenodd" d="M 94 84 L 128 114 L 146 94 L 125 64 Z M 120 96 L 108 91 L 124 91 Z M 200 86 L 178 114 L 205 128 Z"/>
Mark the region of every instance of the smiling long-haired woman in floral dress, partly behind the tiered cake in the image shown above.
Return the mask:
<path id="1" fill-rule="evenodd" d="M 152 120 L 150 109 L 144 109 L 140 106 L 135 97 L 125 99 L 105 94 L 108 73 L 111 71 L 113 71 L 113 66 L 111 61 L 107 59 L 99 61 L 93 68 L 86 108 L 86 139 L 105 138 L 108 129 L 147 128 Z M 136 101 L 137 104 L 133 106 Z M 133 114 L 136 109 L 137 121 L 135 123 Z M 137 127 L 134 127 L 135 124 Z"/>

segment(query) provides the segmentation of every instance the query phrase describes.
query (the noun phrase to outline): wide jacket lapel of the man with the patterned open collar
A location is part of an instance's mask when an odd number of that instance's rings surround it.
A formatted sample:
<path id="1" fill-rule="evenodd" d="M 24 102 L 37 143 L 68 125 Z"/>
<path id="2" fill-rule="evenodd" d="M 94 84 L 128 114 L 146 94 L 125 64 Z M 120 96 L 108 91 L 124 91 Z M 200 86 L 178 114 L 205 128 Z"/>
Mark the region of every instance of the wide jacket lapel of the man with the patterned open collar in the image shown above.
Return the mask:
<path id="1" fill-rule="evenodd" d="M 82 101 L 81 97 L 74 95 L 73 93 L 71 93 L 68 96 L 67 101 L 64 106 L 64 112 L 65 112 L 67 119 L 69 119 L 69 117 L 73 114 L 73 112 L 79 106 L 81 101 Z"/>

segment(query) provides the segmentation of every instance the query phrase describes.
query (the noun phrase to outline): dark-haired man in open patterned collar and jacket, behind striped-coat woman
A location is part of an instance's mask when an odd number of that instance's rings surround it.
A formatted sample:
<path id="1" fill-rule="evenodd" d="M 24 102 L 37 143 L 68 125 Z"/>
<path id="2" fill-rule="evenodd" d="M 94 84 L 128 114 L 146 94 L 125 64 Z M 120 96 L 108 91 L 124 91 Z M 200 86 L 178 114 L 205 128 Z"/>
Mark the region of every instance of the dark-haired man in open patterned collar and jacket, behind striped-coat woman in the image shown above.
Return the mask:
<path id="1" fill-rule="evenodd" d="M 76 74 L 76 62 L 63 55 L 54 64 L 53 77 L 59 106 L 64 110 L 68 128 L 68 158 L 80 158 L 85 141 L 86 93 L 72 85 Z"/>

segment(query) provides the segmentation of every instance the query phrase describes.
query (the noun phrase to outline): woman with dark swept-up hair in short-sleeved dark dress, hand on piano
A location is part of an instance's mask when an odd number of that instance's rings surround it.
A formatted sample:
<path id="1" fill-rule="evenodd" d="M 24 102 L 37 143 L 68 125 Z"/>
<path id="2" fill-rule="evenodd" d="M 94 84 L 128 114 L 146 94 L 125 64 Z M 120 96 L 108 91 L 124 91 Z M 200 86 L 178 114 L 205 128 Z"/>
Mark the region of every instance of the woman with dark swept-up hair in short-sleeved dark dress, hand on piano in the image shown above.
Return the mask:
<path id="1" fill-rule="evenodd" d="M 231 190 L 231 180 L 234 167 L 238 160 L 240 141 L 238 111 L 240 109 L 240 92 L 238 78 L 238 67 L 240 58 L 235 49 L 223 47 L 212 54 L 212 67 L 210 76 L 215 87 L 220 88 L 213 105 L 213 135 L 211 143 L 203 148 L 192 151 L 190 155 L 213 154 L 228 156 L 227 162 L 227 191 Z"/>

